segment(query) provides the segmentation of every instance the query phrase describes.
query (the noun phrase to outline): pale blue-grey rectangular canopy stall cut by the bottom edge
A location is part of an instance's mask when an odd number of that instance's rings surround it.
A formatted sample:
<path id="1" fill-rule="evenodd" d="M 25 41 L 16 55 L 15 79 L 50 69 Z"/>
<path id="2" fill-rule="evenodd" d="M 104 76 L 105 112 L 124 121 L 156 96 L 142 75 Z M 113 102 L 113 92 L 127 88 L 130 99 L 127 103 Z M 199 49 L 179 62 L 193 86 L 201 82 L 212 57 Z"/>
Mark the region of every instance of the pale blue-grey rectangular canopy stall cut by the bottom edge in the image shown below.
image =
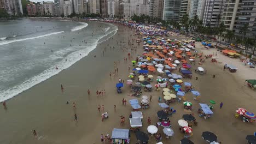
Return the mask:
<path id="1" fill-rule="evenodd" d="M 119 144 L 119 143 L 130 143 L 129 137 L 131 136 L 129 129 L 117 129 L 114 128 L 112 130 L 112 136 L 111 139 L 113 141 L 113 144 Z"/>

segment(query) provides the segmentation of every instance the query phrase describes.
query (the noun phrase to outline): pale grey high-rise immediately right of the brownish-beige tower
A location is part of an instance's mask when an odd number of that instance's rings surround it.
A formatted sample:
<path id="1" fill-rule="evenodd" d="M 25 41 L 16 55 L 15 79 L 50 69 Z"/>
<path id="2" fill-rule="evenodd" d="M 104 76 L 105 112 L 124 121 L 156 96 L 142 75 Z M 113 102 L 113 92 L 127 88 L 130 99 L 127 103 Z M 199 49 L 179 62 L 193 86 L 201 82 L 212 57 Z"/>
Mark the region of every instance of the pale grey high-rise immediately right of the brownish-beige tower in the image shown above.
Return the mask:
<path id="1" fill-rule="evenodd" d="M 165 0 L 162 20 L 179 21 L 181 0 Z"/>

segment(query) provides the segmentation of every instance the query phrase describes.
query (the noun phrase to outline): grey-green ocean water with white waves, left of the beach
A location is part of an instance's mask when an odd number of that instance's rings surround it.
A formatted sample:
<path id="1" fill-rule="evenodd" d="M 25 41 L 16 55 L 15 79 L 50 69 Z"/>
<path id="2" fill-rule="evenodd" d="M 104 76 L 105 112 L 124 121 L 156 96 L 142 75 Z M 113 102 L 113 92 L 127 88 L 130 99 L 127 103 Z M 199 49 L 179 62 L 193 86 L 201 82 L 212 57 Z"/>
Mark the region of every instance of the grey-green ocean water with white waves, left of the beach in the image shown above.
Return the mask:
<path id="1" fill-rule="evenodd" d="M 0 101 L 70 67 L 117 29 L 100 22 L 90 25 L 59 20 L 1 21 Z"/>

